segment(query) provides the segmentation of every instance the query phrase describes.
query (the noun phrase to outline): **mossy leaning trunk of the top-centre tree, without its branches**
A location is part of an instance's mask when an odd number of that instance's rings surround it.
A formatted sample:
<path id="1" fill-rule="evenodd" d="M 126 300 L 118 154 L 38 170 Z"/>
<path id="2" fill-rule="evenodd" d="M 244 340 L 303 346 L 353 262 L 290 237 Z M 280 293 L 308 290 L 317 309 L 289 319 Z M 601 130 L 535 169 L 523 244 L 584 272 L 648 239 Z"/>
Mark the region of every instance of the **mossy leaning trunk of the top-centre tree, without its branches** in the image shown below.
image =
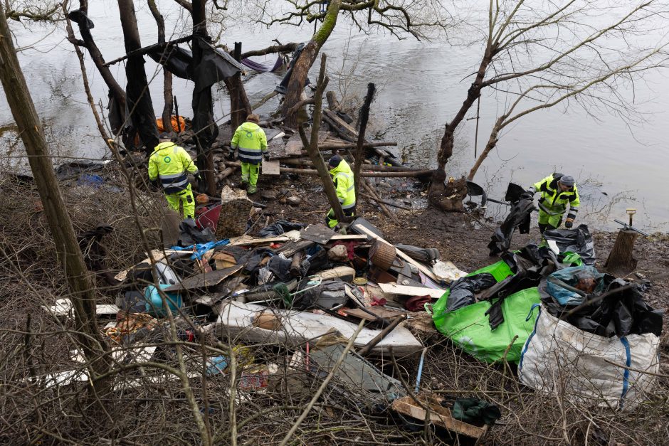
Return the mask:
<path id="1" fill-rule="evenodd" d="M 305 90 L 307 74 L 311 65 L 316 61 L 320 48 L 327 41 L 327 38 L 330 37 L 334 26 L 337 24 L 337 17 L 339 16 L 339 9 L 341 7 L 342 0 L 332 0 L 330 2 L 330 5 L 327 6 L 327 14 L 325 14 L 323 23 L 307 45 L 305 45 L 302 53 L 300 53 L 300 57 L 297 58 L 295 65 L 293 65 L 293 74 L 290 75 L 288 89 L 283 101 L 282 115 L 285 117 L 284 124 L 286 127 L 297 128 L 297 113 L 288 115 L 288 110 L 293 108 L 297 102 L 300 102 L 302 92 Z"/>

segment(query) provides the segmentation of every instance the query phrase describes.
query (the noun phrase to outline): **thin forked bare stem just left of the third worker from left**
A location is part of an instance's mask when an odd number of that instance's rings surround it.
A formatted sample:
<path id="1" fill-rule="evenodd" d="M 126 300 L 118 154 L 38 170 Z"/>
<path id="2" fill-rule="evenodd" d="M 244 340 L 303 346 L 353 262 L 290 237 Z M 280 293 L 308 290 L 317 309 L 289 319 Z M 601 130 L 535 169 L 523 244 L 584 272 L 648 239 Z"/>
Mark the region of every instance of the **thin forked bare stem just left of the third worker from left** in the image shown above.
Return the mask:
<path id="1" fill-rule="evenodd" d="M 321 56 L 320 59 L 320 73 L 318 74 L 318 83 L 316 85 L 316 92 L 314 94 L 314 115 L 313 115 L 313 124 L 311 129 L 311 141 L 307 141 L 307 134 L 305 129 L 300 125 L 297 129 L 300 131 L 300 138 L 302 138 L 302 145 L 309 152 L 309 157 L 311 158 L 312 163 L 316 167 L 316 174 L 320 176 L 320 180 L 323 182 L 323 189 L 325 189 L 325 195 L 327 196 L 327 201 L 330 201 L 330 206 L 334 211 L 334 216 L 337 217 L 338 221 L 344 221 L 344 211 L 342 210 L 342 205 L 339 203 L 339 198 L 337 197 L 337 191 L 334 190 L 334 183 L 332 178 L 330 178 L 330 171 L 328 171 L 323 157 L 318 151 L 318 128 L 320 127 L 321 120 L 321 108 L 323 105 L 323 92 L 325 92 L 325 87 L 329 79 L 325 75 L 325 54 Z M 300 169 L 295 169 L 300 170 Z M 281 171 L 281 169 L 279 169 Z M 285 169 L 284 169 L 285 171 Z"/>

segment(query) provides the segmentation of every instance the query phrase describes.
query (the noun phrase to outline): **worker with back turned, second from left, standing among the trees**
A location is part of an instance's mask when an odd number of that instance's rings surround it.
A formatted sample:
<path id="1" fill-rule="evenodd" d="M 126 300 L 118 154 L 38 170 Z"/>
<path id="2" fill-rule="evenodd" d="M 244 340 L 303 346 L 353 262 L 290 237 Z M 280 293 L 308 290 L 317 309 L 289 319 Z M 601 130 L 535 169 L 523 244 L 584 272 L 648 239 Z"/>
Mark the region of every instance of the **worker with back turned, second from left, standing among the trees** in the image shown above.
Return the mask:
<path id="1" fill-rule="evenodd" d="M 248 115 L 246 122 L 237 127 L 230 143 L 232 149 L 238 149 L 241 161 L 241 184 L 249 194 L 258 192 L 258 171 L 267 154 L 267 136 L 258 125 L 258 115 Z"/>

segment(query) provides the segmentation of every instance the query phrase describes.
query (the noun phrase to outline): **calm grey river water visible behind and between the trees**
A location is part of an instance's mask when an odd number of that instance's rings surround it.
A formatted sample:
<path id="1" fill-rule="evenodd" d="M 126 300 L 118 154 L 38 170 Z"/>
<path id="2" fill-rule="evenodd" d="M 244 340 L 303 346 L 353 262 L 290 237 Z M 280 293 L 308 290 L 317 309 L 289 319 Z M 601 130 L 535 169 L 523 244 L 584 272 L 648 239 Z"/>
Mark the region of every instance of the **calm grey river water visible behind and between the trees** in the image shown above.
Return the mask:
<path id="1" fill-rule="evenodd" d="M 142 44 L 157 41 L 155 22 L 143 1 L 136 1 Z M 158 2 L 167 20 L 168 38 L 189 33 L 189 16 L 168 0 Z M 93 36 L 106 60 L 125 53 L 115 1 L 90 2 L 90 18 L 95 23 Z M 58 161 L 69 157 L 100 159 L 108 156 L 86 101 L 80 68 L 72 46 L 65 40 L 63 27 L 10 23 L 38 113 L 48 141 Z M 312 26 L 303 29 L 273 26 L 228 25 L 222 41 L 232 46 L 243 42 L 243 51 L 264 48 L 273 39 L 282 43 L 306 41 Z M 452 119 L 465 99 L 471 78 L 478 66 L 480 48 L 453 47 L 443 41 L 424 42 L 413 38 L 397 40 L 386 34 L 359 33 L 351 23 L 341 21 L 322 52 L 327 53 L 329 89 L 339 95 L 361 97 L 368 82 L 378 89 L 372 105 L 369 135 L 396 141 L 397 152 L 414 166 L 434 166 L 443 125 Z M 256 58 L 273 61 L 275 56 Z M 316 64 L 318 65 L 318 64 Z M 162 73 L 147 58 L 147 73 L 154 76 L 150 90 L 157 115 L 162 110 Z M 107 90 L 90 58 L 88 76 L 96 100 L 106 105 Z M 114 65 L 121 85 L 125 84 L 122 63 Z M 312 73 L 312 79 L 317 73 Z M 634 96 L 645 122 L 626 124 L 619 117 L 597 115 L 584 110 L 555 107 L 535 112 L 507 129 L 478 171 L 475 178 L 493 198 L 501 198 L 506 184 L 514 181 L 529 186 L 559 170 L 576 178 L 583 211 L 579 219 L 598 228 L 616 228 L 613 218 L 626 220 L 625 209 L 636 208 L 635 222 L 646 230 L 669 230 L 669 206 L 665 201 L 665 179 L 669 169 L 669 91 L 667 72 L 646 75 L 637 83 Z M 251 103 L 272 92 L 281 75 L 249 73 L 245 78 Z M 174 79 L 174 94 L 181 115 L 191 115 L 192 83 Z M 663 88 L 664 87 L 664 88 Z M 224 88 L 215 93 L 214 114 L 226 120 L 229 102 Z M 500 112 L 497 96 L 481 97 L 478 151 L 488 139 L 490 127 Z M 257 110 L 270 115 L 278 98 Z M 475 107 L 468 118 L 476 116 Z M 20 143 L 12 131 L 12 117 L 0 91 L 0 147 L 6 153 L 3 164 L 25 168 Z M 467 174 L 474 162 L 475 120 L 466 121 L 456 135 L 455 154 L 447 166 L 452 176 Z M 58 162 L 57 161 L 57 162 Z M 502 215 L 499 209 L 491 213 Z"/>

